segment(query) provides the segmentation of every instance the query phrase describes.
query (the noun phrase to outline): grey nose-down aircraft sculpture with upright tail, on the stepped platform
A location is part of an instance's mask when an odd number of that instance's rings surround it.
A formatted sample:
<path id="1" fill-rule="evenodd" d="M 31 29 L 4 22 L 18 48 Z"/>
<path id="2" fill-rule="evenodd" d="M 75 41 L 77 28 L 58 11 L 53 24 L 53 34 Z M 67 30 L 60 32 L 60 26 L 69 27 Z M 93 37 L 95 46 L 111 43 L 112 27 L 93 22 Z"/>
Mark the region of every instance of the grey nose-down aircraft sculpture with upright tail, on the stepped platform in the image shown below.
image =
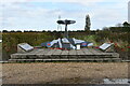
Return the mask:
<path id="1" fill-rule="evenodd" d="M 75 20 L 57 20 L 57 24 L 65 25 L 65 32 L 64 38 L 58 38 L 57 40 L 53 40 L 51 42 L 41 43 L 41 46 L 46 47 L 54 47 L 54 48 L 61 48 L 61 49 L 77 49 L 77 45 L 79 46 L 92 46 L 93 43 L 86 42 L 83 40 L 78 40 L 75 38 L 68 38 L 68 31 L 67 26 L 70 24 L 75 24 Z"/>

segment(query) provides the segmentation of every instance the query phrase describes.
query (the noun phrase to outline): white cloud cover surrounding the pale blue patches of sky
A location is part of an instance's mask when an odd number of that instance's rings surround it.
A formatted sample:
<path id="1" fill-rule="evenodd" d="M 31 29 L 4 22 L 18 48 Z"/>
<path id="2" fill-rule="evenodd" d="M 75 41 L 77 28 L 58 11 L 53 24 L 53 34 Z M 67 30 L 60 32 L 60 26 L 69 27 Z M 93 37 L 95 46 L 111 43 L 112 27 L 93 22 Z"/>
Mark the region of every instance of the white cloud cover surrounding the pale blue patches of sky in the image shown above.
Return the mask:
<path id="1" fill-rule="evenodd" d="M 77 3 L 88 9 L 91 8 L 91 11 L 77 10 L 77 12 L 68 12 L 62 9 L 44 8 L 34 8 L 34 10 L 30 10 L 20 6 L 20 4 L 24 2 Z M 115 4 L 112 5 L 109 3 L 109 5 L 102 6 L 99 2 L 114 2 Z M 90 14 L 92 28 L 98 29 L 108 25 L 116 25 L 117 23 L 127 19 L 127 2 L 128 0 L 2 0 L 0 6 L 4 8 L 4 22 L 8 28 L 56 28 L 55 19 L 57 19 L 58 15 L 62 15 L 64 18 L 77 20 L 77 23 L 74 26 L 70 26 L 70 28 L 82 29 L 84 27 L 86 14 Z M 0 11 L 2 9 L 0 9 Z M 2 14 L 0 13 L 0 15 Z"/>

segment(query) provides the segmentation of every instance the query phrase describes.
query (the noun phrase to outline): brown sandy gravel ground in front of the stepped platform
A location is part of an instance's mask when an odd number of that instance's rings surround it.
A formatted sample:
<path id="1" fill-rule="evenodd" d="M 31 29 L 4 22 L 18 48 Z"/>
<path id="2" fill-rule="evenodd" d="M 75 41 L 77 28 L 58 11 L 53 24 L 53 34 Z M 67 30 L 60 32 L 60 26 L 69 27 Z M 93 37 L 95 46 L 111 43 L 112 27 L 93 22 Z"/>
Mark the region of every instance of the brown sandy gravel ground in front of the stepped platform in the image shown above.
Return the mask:
<path id="1" fill-rule="evenodd" d="M 127 62 L 3 63 L 3 84 L 99 84 L 127 78 Z"/>

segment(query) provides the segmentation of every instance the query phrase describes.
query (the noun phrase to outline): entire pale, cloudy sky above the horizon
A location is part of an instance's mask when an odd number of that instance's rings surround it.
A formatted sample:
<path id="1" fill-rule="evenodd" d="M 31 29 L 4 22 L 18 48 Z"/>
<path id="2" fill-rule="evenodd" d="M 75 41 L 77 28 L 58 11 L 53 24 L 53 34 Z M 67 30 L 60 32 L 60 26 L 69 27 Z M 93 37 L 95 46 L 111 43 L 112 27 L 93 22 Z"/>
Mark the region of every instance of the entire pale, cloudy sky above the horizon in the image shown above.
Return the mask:
<path id="1" fill-rule="evenodd" d="M 2 0 L 0 30 L 57 30 L 56 20 L 73 19 L 68 30 L 83 30 L 86 15 L 91 30 L 128 20 L 129 0 Z M 64 30 L 64 26 L 62 26 Z"/>

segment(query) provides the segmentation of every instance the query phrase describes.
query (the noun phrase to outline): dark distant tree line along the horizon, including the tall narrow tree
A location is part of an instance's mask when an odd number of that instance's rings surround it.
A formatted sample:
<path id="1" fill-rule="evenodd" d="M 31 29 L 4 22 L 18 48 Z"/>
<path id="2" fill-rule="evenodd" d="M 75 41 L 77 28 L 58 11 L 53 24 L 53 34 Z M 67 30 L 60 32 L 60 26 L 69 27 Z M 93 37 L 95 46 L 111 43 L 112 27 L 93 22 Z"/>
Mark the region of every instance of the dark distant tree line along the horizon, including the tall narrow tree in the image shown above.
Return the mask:
<path id="1" fill-rule="evenodd" d="M 73 31 L 68 30 L 68 32 L 90 32 L 90 33 L 92 32 L 92 33 L 94 33 L 94 32 L 100 31 L 100 29 L 90 30 L 90 26 L 91 26 L 90 17 L 89 17 L 89 15 L 87 15 L 84 30 L 73 30 Z M 102 28 L 102 31 L 104 31 L 104 30 L 105 31 L 106 30 L 107 31 L 113 31 L 113 32 L 130 32 L 130 24 L 125 22 L 123 24 L 118 24 L 115 27 L 104 27 L 104 28 Z M 46 30 L 42 30 L 42 31 L 36 31 L 36 30 L 35 31 L 34 30 L 24 30 L 24 31 L 11 30 L 11 31 L 8 31 L 8 30 L 2 30 L 0 32 L 64 32 L 64 31 L 56 31 L 56 30 L 53 30 L 53 31 L 51 31 L 51 30 L 48 30 L 48 31 L 46 31 Z"/>

